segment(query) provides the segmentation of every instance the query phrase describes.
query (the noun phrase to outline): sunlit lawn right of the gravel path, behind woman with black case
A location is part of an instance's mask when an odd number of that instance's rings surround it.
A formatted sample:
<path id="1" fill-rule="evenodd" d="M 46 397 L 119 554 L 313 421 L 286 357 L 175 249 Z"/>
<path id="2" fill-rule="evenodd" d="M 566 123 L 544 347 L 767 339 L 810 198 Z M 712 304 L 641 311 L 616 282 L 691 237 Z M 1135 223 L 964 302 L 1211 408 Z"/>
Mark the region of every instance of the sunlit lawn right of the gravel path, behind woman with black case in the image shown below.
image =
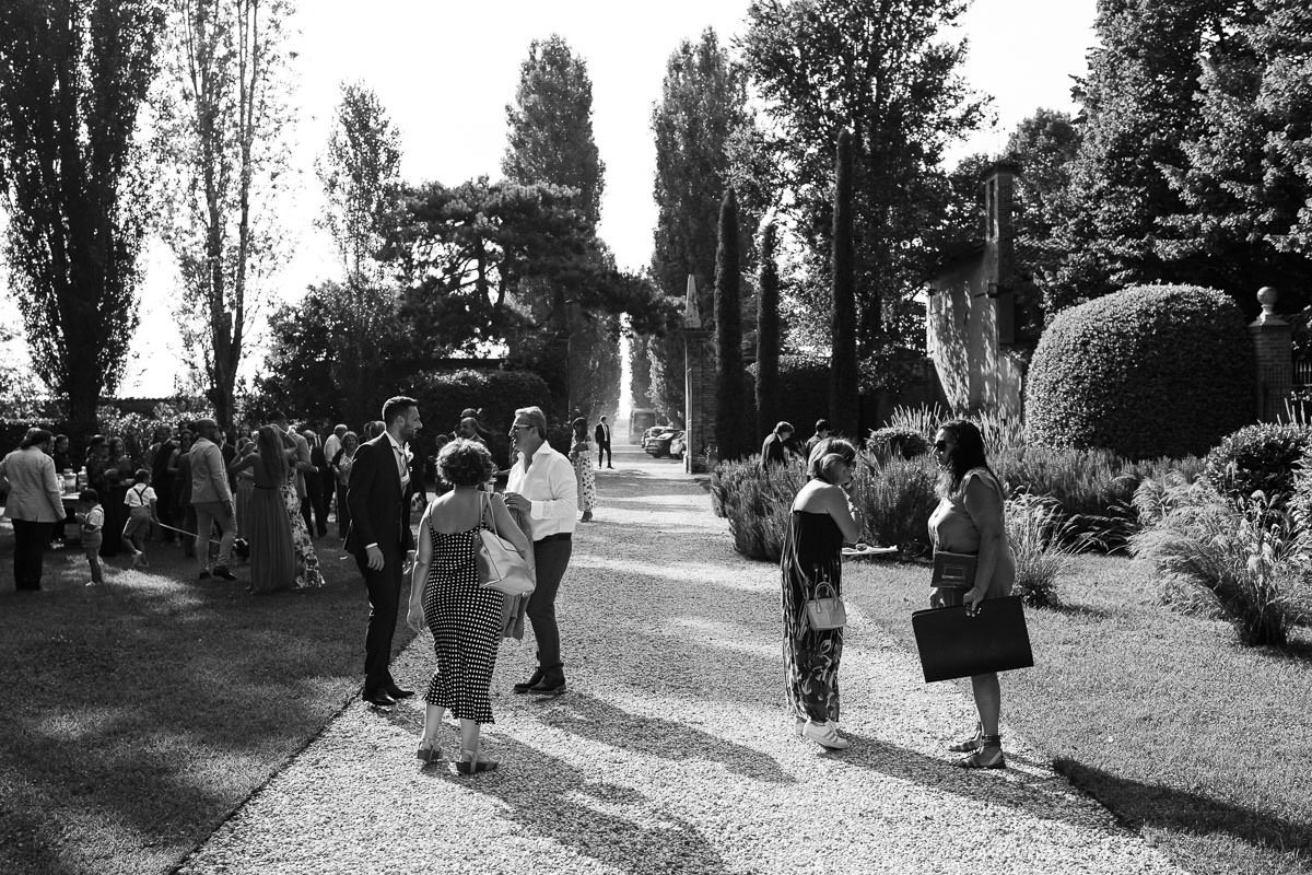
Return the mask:
<path id="1" fill-rule="evenodd" d="M 845 596 L 914 649 L 928 568 L 845 571 Z M 1059 596 L 1027 611 L 1036 665 L 1002 677 L 1004 720 L 1191 872 L 1312 870 L 1312 632 L 1240 647 L 1157 605 L 1127 559 L 1078 558 Z"/>

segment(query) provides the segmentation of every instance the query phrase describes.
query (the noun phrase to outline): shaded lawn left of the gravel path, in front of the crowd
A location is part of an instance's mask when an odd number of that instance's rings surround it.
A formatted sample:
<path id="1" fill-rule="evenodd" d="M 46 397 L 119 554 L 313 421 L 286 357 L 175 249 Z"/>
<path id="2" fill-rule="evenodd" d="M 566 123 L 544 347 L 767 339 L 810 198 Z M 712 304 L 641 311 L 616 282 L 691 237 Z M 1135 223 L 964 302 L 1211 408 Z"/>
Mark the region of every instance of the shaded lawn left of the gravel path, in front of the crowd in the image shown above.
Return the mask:
<path id="1" fill-rule="evenodd" d="M 256 598 L 165 544 L 100 588 L 54 551 L 45 592 L 14 593 L 0 534 L 0 872 L 167 871 L 361 682 L 369 605 L 335 538 L 327 586 Z"/>

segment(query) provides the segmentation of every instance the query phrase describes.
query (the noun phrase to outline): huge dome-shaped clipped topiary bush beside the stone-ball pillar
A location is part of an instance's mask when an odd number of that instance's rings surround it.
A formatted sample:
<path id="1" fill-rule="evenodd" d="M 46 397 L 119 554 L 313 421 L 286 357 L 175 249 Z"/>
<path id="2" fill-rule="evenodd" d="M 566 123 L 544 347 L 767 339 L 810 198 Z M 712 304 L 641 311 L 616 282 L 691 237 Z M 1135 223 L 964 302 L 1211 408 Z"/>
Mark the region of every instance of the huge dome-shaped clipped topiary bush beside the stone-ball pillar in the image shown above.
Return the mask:
<path id="1" fill-rule="evenodd" d="M 1026 438 L 1132 459 L 1202 455 L 1254 418 L 1239 307 L 1197 286 L 1135 286 L 1063 311 L 1025 386 Z"/>

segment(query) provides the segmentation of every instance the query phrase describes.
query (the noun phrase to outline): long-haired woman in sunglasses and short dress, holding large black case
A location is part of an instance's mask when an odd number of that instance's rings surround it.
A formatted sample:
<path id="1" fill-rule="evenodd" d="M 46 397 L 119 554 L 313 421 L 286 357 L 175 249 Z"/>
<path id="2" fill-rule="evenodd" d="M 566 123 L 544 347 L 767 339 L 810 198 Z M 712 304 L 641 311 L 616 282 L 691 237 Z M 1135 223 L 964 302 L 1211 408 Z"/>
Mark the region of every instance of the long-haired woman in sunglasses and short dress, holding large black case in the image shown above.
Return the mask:
<path id="1" fill-rule="evenodd" d="M 972 554 L 977 559 L 971 589 L 935 589 L 930 603 L 966 605 L 975 611 L 983 601 L 1010 596 L 1015 582 L 1015 559 L 1006 542 L 1002 485 L 988 467 L 984 438 L 974 422 L 945 422 L 934 436 L 934 457 L 942 474 L 938 508 L 929 518 L 929 539 L 935 551 Z M 1002 691 L 997 672 L 972 677 L 971 687 L 980 715 L 975 736 L 950 749 L 967 754 L 956 761 L 963 769 L 1002 769 L 1006 761 L 998 735 Z"/>

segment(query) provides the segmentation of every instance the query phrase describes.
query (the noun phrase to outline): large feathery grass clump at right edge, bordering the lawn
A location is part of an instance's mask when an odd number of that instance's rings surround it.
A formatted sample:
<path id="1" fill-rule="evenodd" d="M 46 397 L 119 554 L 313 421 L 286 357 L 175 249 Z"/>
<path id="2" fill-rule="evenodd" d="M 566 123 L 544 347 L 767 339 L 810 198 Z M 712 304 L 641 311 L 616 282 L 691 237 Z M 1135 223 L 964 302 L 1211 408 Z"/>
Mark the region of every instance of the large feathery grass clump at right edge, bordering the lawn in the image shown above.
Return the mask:
<path id="1" fill-rule="evenodd" d="M 1261 492 L 1232 501 L 1206 480 L 1144 480 L 1135 508 L 1145 527 L 1134 556 L 1152 563 L 1165 598 L 1197 610 L 1194 598 L 1229 619 L 1245 644 L 1281 647 L 1307 619 L 1309 539 L 1294 514 Z"/>

